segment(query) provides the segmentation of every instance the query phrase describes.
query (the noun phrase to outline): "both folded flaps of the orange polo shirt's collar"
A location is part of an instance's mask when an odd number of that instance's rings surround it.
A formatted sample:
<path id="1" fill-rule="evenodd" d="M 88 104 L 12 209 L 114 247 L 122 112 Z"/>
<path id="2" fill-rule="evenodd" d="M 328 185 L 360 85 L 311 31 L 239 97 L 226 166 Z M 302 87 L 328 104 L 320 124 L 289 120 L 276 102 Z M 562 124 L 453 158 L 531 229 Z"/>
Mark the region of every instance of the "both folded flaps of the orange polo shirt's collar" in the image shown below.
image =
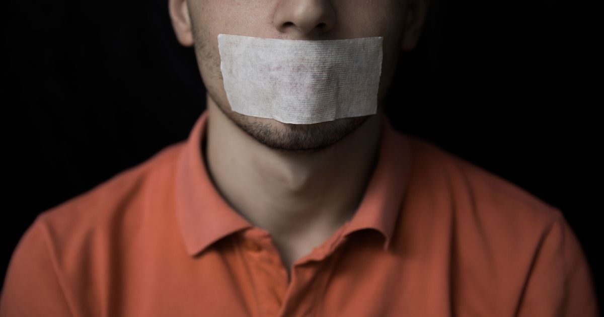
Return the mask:
<path id="1" fill-rule="evenodd" d="M 408 138 L 393 130 L 385 115 L 380 115 L 382 133 L 377 164 L 359 209 L 342 234 L 375 229 L 384 235 L 387 250 L 408 182 L 410 147 Z M 228 205 L 208 175 L 202 153 L 207 120 L 208 113 L 204 111 L 176 163 L 176 216 L 191 256 L 233 232 L 253 227 Z"/>

